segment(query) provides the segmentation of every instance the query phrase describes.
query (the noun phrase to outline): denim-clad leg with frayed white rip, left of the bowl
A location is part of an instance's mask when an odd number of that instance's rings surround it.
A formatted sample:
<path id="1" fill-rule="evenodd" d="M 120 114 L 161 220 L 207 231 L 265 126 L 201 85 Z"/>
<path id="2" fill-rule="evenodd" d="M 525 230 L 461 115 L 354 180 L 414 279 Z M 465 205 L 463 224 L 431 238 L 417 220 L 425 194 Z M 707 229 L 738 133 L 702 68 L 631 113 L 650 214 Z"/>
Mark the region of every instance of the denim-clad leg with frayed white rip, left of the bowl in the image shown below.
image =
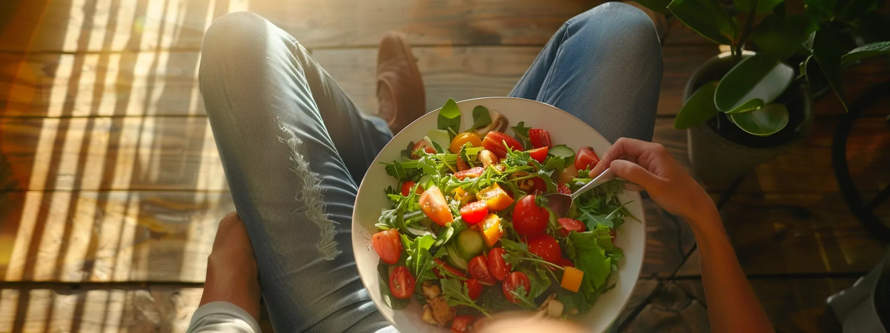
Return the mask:
<path id="1" fill-rule="evenodd" d="M 360 115 L 293 37 L 253 13 L 207 30 L 199 80 L 275 330 L 388 326 L 350 234 L 353 179 L 391 139 L 385 123 Z"/>

